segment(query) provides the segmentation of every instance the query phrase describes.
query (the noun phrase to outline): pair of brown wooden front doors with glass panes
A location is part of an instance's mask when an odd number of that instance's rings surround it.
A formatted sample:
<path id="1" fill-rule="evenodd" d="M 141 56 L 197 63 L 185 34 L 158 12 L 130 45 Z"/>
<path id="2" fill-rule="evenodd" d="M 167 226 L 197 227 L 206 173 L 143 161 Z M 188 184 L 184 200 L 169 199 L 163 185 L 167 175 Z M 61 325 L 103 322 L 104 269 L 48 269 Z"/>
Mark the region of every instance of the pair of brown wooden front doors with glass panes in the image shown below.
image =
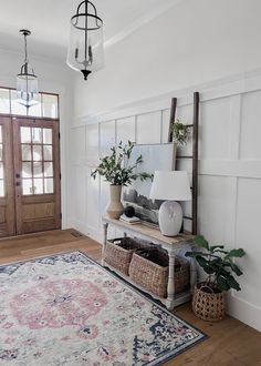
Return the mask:
<path id="1" fill-rule="evenodd" d="M 0 121 L 6 151 L 0 160 L 0 222 L 6 217 L 0 236 L 61 228 L 59 120 Z"/>

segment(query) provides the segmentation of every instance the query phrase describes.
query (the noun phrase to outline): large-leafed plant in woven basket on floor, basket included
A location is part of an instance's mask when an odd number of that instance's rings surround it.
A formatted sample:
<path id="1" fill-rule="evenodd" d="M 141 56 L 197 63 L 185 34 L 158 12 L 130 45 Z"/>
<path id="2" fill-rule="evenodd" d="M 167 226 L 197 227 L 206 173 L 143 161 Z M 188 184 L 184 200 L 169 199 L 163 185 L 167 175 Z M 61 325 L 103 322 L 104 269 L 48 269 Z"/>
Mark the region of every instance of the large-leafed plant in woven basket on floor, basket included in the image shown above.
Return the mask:
<path id="1" fill-rule="evenodd" d="M 203 321 L 221 321 L 225 316 L 225 293 L 230 288 L 240 291 L 234 274 L 240 276 L 242 271 L 234 258 L 242 257 L 242 248 L 226 251 L 223 245 L 209 245 L 202 235 L 195 237 L 199 251 L 187 252 L 187 257 L 195 258 L 207 274 L 207 278 L 195 287 L 192 311 Z"/>

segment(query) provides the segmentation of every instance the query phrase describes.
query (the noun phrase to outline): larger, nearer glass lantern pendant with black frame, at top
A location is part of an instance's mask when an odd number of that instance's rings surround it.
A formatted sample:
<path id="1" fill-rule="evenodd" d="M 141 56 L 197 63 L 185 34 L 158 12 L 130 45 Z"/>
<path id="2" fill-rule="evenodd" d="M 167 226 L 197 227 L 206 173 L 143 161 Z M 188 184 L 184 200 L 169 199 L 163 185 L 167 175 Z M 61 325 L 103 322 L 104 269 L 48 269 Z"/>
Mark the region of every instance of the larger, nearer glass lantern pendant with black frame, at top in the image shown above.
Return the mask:
<path id="1" fill-rule="evenodd" d="M 84 80 L 104 67 L 103 20 L 88 0 L 82 1 L 71 18 L 67 64 L 81 71 Z"/>

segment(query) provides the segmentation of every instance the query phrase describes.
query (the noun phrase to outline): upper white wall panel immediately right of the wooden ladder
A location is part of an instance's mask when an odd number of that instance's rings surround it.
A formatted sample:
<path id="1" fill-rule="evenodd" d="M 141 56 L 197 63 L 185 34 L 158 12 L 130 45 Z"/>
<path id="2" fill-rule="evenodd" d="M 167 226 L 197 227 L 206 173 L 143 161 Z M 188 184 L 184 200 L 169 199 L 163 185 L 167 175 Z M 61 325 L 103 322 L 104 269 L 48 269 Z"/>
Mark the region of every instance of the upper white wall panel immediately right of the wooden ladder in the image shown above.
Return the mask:
<path id="1" fill-rule="evenodd" d="M 227 159 L 229 152 L 228 128 L 230 123 L 230 98 L 201 103 L 200 157 Z"/>

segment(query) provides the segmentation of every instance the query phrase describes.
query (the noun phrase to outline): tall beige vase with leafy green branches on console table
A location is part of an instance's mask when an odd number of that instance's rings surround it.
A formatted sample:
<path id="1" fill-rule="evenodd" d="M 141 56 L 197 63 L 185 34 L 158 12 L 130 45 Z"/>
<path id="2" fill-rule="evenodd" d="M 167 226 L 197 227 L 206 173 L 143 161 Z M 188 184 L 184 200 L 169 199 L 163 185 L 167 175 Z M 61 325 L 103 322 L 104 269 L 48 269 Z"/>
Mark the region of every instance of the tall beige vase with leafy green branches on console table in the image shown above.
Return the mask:
<path id="1" fill-rule="evenodd" d="M 123 145 L 123 142 L 121 141 L 117 146 L 111 148 L 109 155 L 100 159 L 100 165 L 91 173 L 92 177 L 96 179 L 97 174 L 100 174 L 105 177 L 106 182 L 111 183 L 111 202 L 106 209 L 111 218 L 119 218 L 124 212 L 124 206 L 121 202 L 123 185 L 128 185 L 137 179 L 140 179 L 142 181 L 145 181 L 148 177 L 152 179 L 152 175 L 146 172 L 135 172 L 137 165 L 143 163 L 142 155 L 129 165 L 133 148 L 133 142 L 128 141 L 126 145 Z"/>

